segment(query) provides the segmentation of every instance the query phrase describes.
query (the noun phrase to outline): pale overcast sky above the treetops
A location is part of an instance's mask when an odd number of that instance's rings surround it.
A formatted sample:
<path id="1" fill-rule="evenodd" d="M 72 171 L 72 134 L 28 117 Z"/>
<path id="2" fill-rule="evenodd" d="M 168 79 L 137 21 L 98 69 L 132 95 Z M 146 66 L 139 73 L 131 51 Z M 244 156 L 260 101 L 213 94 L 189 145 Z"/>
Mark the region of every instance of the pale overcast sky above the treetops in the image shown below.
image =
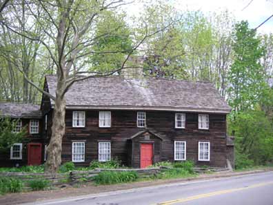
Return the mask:
<path id="1" fill-rule="evenodd" d="M 169 0 L 168 2 L 179 11 L 201 10 L 208 13 L 228 10 L 237 21 L 247 20 L 251 28 L 256 28 L 273 14 L 273 0 Z M 130 12 L 136 13 L 140 10 L 141 6 L 138 5 Z M 257 31 L 267 34 L 273 32 L 273 17 Z"/>

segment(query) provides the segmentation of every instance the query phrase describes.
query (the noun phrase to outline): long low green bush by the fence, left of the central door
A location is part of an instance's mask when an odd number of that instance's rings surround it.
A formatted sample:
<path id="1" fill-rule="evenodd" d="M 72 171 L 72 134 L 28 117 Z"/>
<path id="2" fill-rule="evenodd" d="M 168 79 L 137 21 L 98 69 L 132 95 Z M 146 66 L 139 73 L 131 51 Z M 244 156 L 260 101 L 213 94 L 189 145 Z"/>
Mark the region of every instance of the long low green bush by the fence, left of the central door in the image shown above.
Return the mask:
<path id="1" fill-rule="evenodd" d="M 134 182 L 139 178 L 135 171 L 103 171 L 94 177 L 96 184 L 118 184 L 125 182 Z"/>

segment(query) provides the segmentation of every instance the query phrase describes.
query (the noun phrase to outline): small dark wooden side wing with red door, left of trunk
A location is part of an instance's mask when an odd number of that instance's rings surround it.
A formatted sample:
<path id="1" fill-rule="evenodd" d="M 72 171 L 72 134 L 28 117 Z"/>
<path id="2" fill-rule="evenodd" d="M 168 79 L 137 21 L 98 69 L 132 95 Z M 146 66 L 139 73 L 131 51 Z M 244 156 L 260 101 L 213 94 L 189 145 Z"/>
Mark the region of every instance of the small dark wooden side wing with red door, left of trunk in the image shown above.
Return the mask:
<path id="1" fill-rule="evenodd" d="M 41 135 L 43 122 L 41 121 L 40 106 L 32 104 L 14 104 L 0 102 L 0 117 L 17 119 L 14 132 L 25 129 L 28 143 L 14 144 L 8 151 L 0 153 L 1 166 L 21 166 L 26 164 L 41 164 L 42 144 L 45 144 Z"/>

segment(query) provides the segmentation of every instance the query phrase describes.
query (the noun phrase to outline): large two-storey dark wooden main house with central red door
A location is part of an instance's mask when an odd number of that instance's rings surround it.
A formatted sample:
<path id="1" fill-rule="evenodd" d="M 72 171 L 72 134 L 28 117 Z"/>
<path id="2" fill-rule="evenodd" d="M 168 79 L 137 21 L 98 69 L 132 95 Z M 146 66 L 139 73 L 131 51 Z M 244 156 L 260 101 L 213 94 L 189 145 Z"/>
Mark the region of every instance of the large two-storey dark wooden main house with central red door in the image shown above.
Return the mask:
<path id="1" fill-rule="evenodd" d="M 56 77 L 44 90 L 55 95 Z M 230 106 L 213 84 L 169 79 L 100 77 L 79 81 L 66 94 L 62 162 L 88 166 L 118 158 L 143 168 L 187 159 L 227 166 Z M 41 102 L 41 158 L 51 135 L 54 101 Z"/>

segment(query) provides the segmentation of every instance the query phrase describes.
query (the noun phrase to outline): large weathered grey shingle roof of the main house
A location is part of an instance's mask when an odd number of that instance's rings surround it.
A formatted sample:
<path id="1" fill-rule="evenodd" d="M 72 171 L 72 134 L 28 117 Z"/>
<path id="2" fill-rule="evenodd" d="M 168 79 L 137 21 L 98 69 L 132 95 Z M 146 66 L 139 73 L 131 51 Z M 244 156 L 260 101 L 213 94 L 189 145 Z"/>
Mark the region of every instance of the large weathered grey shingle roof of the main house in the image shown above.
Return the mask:
<path id="1" fill-rule="evenodd" d="M 56 77 L 46 77 L 55 95 Z M 175 110 L 230 113 L 213 84 L 169 79 L 90 78 L 74 83 L 66 93 L 67 108 L 109 110 Z M 54 107 L 54 101 L 51 101 Z"/>

